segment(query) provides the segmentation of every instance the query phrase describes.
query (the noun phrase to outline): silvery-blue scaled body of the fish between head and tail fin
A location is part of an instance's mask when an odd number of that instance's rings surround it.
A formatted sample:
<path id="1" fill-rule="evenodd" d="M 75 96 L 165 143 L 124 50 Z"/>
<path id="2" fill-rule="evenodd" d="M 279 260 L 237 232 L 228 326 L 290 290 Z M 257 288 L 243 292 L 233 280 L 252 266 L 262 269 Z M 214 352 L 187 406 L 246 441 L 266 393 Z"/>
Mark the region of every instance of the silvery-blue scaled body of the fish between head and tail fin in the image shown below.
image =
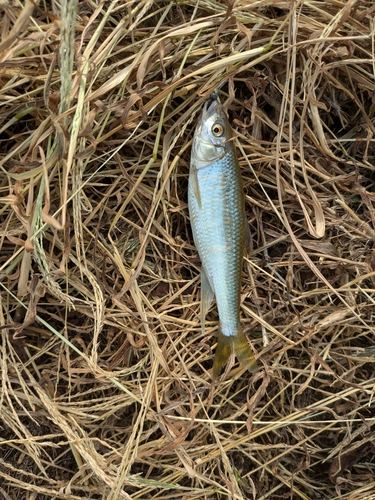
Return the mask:
<path id="1" fill-rule="evenodd" d="M 243 256 L 244 207 L 238 196 L 242 190 L 238 162 L 230 152 L 197 175 L 201 210 L 189 193 L 194 241 L 215 293 L 222 332 L 233 334 L 238 325 Z"/>

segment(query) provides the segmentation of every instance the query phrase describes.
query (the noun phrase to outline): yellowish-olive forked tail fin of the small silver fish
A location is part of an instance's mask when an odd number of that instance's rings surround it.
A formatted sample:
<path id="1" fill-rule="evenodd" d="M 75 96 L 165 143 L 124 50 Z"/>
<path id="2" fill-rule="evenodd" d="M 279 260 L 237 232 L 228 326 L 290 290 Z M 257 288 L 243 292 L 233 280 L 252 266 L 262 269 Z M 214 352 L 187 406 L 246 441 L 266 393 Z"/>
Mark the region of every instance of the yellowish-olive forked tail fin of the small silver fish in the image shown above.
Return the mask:
<path id="1" fill-rule="evenodd" d="M 254 358 L 254 354 L 246 340 L 245 334 L 242 331 L 241 326 L 238 327 L 236 335 L 226 336 L 221 333 L 219 329 L 219 340 L 216 347 L 216 353 L 214 358 L 214 368 L 213 368 L 213 378 L 217 378 L 220 374 L 220 370 L 223 368 L 225 363 L 228 361 L 229 356 L 234 351 L 238 360 L 247 368 L 250 372 L 257 369 L 257 363 Z"/>

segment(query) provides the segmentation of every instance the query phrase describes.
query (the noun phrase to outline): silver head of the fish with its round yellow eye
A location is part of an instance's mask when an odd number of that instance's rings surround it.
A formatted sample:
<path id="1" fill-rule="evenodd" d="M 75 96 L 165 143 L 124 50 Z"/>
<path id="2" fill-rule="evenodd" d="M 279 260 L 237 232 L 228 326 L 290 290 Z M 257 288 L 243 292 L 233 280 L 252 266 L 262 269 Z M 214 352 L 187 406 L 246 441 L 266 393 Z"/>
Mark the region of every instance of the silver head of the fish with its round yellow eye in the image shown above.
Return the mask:
<path id="1" fill-rule="evenodd" d="M 232 129 L 222 104 L 215 98 L 206 103 L 195 130 L 192 161 L 197 168 L 222 158 L 232 138 Z"/>

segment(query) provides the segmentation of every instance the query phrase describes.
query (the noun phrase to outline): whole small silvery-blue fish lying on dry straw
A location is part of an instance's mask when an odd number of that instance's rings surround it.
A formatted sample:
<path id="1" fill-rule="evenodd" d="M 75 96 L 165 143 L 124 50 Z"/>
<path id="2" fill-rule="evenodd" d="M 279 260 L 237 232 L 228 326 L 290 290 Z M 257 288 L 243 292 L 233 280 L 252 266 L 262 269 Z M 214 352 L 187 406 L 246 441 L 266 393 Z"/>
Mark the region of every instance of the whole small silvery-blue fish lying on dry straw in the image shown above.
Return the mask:
<path id="1" fill-rule="evenodd" d="M 232 352 L 250 372 L 257 368 L 240 323 L 240 289 L 250 230 L 233 131 L 216 93 L 198 119 L 191 148 L 188 208 L 201 260 L 201 327 L 215 297 L 219 332 L 213 378 Z"/>

